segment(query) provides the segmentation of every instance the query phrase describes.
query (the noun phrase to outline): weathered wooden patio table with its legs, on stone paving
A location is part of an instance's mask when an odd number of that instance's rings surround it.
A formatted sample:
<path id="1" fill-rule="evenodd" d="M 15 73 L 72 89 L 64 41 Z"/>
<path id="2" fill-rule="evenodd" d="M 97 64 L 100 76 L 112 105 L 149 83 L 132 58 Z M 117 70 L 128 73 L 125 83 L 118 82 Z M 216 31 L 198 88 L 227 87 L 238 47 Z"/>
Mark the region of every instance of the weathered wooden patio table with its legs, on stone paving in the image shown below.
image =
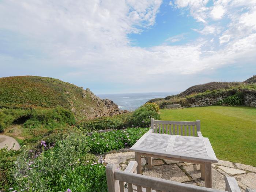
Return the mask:
<path id="1" fill-rule="evenodd" d="M 218 163 L 208 138 L 183 135 L 145 133 L 131 148 L 138 162 L 137 173 L 142 174 L 141 155 L 200 164 L 205 187 L 212 187 L 211 163 Z M 151 161 L 148 167 L 152 169 Z"/>

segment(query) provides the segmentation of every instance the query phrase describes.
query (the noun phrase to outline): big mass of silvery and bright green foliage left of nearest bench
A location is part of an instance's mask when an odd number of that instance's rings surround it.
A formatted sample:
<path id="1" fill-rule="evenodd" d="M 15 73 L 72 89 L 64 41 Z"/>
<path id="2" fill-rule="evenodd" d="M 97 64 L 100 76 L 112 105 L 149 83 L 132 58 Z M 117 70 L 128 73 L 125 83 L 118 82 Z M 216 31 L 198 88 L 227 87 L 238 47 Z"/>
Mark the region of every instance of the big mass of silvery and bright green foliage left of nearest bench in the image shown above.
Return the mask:
<path id="1" fill-rule="evenodd" d="M 105 167 L 97 164 L 95 155 L 88 154 L 86 138 L 81 131 L 71 132 L 54 147 L 43 147 L 38 157 L 30 157 L 24 150 L 15 162 L 13 190 L 106 191 Z"/>

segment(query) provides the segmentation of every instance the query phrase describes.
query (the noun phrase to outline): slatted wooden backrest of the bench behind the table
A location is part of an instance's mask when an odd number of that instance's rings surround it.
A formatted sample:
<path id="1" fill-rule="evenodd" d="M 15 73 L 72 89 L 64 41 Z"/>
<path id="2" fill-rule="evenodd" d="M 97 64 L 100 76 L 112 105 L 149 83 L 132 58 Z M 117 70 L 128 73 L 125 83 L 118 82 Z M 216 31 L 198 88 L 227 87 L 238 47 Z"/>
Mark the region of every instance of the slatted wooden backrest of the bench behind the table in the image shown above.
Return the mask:
<path id="1" fill-rule="evenodd" d="M 153 133 L 198 136 L 197 131 L 200 131 L 200 120 L 160 121 L 151 118 L 151 129 L 153 129 Z"/>

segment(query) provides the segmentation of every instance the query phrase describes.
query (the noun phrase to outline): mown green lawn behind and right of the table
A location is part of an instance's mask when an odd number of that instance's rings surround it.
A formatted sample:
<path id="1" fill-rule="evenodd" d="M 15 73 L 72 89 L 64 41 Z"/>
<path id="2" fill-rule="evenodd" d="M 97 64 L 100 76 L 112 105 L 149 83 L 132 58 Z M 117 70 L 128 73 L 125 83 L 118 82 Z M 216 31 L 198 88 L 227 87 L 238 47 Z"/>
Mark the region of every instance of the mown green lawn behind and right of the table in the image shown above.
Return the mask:
<path id="1" fill-rule="evenodd" d="M 208 106 L 160 109 L 161 120 L 201 120 L 217 158 L 256 166 L 256 108 Z"/>

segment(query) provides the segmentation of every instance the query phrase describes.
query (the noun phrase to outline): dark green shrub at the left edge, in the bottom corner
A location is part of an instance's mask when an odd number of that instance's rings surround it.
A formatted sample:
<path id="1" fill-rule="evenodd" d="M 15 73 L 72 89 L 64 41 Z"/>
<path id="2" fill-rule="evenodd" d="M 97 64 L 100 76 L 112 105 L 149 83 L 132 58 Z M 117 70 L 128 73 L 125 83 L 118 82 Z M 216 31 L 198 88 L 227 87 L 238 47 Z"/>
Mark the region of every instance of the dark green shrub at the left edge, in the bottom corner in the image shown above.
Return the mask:
<path id="1" fill-rule="evenodd" d="M 0 148 L 0 191 L 7 189 L 13 182 L 11 169 L 14 168 L 14 161 L 21 153 L 21 150 L 8 150 L 7 147 Z"/>

